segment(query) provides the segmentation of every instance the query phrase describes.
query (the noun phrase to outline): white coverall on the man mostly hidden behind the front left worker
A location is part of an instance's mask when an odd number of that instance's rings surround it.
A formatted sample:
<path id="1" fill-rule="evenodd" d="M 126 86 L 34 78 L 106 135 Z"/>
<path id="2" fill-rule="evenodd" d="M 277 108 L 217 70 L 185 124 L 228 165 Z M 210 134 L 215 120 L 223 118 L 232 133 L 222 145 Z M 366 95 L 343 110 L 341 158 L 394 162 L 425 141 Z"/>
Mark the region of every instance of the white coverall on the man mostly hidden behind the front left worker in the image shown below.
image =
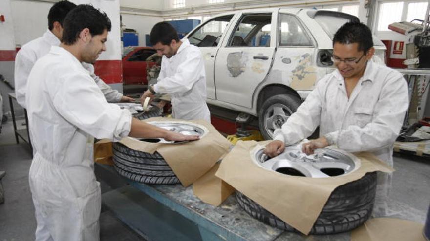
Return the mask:
<path id="1" fill-rule="evenodd" d="M 17 56 L 15 57 L 15 94 L 17 96 L 18 104 L 23 108 L 26 108 L 25 93 L 27 78 L 28 74 L 30 74 L 31 68 L 33 68 L 36 60 L 49 52 L 51 46 L 58 45 L 60 45 L 60 40 L 48 29 L 42 37 L 26 43 L 22 46 L 20 51 L 18 51 Z M 103 80 L 95 75 L 94 67 L 91 64 L 85 63 L 84 67 L 90 71 L 91 76 L 102 90 L 103 94 L 105 94 L 108 102 L 119 102 L 121 100 L 123 94 L 113 90 L 110 86 L 105 84 Z"/>

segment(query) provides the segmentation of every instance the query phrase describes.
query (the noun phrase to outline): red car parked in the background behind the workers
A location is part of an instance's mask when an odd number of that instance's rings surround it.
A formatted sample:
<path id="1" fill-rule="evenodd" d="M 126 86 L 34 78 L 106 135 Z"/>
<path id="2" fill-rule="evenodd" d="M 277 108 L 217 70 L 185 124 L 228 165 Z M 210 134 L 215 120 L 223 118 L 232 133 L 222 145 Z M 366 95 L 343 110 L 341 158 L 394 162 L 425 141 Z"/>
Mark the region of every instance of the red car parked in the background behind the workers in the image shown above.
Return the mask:
<path id="1" fill-rule="evenodd" d="M 155 62 L 147 62 L 146 59 L 157 51 L 151 47 L 129 46 L 124 48 L 122 56 L 123 83 L 124 85 L 147 85 L 147 64 L 152 67 Z"/>

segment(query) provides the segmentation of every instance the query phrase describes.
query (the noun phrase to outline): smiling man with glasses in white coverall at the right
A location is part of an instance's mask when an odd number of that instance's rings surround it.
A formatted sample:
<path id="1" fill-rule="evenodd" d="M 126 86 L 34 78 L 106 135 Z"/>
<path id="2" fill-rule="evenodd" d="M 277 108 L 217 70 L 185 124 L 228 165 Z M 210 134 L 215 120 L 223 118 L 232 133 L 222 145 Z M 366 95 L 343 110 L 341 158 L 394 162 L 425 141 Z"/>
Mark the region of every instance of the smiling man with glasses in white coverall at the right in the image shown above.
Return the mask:
<path id="1" fill-rule="evenodd" d="M 274 157 L 308 137 L 320 126 L 320 138 L 304 143 L 303 152 L 336 145 L 349 152 L 370 151 L 393 166 L 393 144 L 409 106 L 402 74 L 373 63 L 375 50 L 370 29 L 345 23 L 333 38 L 336 70 L 315 86 L 306 100 L 274 132 L 265 153 Z M 373 216 L 386 215 L 391 174 L 378 172 Z"/>

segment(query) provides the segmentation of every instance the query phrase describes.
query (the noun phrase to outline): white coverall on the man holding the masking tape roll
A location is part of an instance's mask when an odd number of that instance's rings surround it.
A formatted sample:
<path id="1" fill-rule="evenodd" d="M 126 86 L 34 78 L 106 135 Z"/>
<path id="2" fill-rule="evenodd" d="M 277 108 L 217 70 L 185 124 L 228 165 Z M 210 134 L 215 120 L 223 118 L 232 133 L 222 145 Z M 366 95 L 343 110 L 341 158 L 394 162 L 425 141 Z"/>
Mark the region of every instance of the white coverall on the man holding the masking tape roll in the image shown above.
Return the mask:
<path id="1" fill-rule="evenodd" d="M 178 51 L 171 58 L 163 56 L 156 93 L 170 94 L 172 116 L 183 120 L 206 120 L 211 114 L 206 104 L 206 74 L 198 47 L 182 39 Z"/>

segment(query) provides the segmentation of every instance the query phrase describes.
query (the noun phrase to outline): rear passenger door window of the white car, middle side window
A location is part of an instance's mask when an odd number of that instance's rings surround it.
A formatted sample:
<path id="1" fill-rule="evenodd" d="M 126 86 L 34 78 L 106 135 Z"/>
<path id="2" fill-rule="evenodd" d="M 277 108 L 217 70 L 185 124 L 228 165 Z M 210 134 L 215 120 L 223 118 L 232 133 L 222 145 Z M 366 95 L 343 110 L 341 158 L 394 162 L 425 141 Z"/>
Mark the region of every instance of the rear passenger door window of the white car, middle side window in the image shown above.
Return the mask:
<path id="1" fill-rule="evenodd" d="M 272 13 L 244 15 L 230 38 L 231 47 L 270 47 Z"/>

